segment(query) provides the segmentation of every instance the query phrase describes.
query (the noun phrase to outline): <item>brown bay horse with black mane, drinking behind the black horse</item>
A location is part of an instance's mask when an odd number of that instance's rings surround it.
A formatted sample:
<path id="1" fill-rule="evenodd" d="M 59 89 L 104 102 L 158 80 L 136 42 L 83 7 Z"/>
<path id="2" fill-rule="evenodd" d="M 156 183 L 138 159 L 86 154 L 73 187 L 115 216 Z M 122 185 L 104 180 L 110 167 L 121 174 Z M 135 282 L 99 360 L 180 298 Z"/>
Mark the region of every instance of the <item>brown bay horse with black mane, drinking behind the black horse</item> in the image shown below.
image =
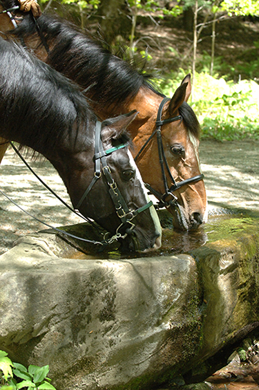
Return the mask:
<path id="1" fill-rule="evenodd" d="M 5 0 L 5 7 L 15 5 L 15 0 Z M 190 75 L 166 99 L 144 75 L 74 26 L 46 15 L 37 24 L 31 15 L 22 19 L 12 37 L 25 41 L 37 57 L 79 84 L 101 120 L 140 111 L 128 131 L 144 183 L 171 212 L 175 228 L 197 229 L 207 218 L 207 197 L 198 156 L 200 127 L 187 104 Z M 1 15 L 2 31 L 7 24 L 8 15 Z"/>

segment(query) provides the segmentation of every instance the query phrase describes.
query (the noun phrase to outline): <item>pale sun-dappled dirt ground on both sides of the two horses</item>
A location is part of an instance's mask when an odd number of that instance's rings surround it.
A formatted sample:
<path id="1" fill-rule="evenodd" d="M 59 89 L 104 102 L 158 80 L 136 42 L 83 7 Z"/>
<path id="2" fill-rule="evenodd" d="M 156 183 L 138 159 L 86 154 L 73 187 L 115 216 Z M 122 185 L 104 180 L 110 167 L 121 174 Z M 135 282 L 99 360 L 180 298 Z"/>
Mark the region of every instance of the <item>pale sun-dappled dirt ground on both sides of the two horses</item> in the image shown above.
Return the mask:
<path id="1" fill-rule="evenodd" d="M 200 143 L 200 161 L 205 175 L 209 206 L 259 210 L 259 141 Z M 37 174 L 69 203 L 61 179 L 50 163 L 30 162 Z M 33 176 L 12 149 L 0 165 L 0 189 L 24 210 L 48 225 L 80 223 Z M 48 228 L 24 214 L 0 193 L 0 254 L 12 248 L 19 236 Z"/>

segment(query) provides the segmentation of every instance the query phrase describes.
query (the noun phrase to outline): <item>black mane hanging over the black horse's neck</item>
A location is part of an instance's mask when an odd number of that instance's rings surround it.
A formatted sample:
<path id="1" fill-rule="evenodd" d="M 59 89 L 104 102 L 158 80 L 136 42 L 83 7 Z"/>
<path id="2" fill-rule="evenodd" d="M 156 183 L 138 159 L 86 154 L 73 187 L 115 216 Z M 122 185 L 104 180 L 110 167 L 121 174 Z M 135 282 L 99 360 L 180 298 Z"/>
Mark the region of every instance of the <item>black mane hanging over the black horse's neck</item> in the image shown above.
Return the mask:
<path id="1" fill-rule="evenodd" d="M 93 118 L 84 95 L 64 75 L 3 39 L 0 53 L 2 136 L 50 149 Z"/>

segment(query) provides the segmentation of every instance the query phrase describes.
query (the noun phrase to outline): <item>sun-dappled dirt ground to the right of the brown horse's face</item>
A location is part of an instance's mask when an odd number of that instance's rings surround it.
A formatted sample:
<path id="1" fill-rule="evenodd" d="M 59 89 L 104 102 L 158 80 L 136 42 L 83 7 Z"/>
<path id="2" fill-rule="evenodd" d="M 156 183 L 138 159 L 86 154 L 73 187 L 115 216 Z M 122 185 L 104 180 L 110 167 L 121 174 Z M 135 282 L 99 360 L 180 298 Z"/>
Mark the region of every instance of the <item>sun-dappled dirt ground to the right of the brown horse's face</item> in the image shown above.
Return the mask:
<path id="1" fill-rule="evenodd" d="M 259 210 L 259 142 L 200 143 L 209 202 Z"/>

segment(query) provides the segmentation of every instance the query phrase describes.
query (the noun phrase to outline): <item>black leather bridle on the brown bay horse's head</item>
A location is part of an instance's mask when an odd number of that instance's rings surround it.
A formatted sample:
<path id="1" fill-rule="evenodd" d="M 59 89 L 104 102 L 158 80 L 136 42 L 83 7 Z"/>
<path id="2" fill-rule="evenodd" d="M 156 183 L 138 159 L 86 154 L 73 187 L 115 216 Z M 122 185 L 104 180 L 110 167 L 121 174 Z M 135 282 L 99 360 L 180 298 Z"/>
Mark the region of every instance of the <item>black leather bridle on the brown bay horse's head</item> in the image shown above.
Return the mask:
<path id="1" fill-rule="evenodd" d="M 155 121 L 155 130 L 151 134 L 151 136 L 146 140 L 144 145 L 141 147 L 140 151 L 138 151 L 137 155 L 135 156 L 135 161 L 137 161 L 137 158 L 139 158 L 140 154 L 142 154 L 142 151 L 146 148 L 149 142 L 151 142 L 153 136 L 155 134 L 157 135 L 157 147 L 158 147 L 158 156 L 159 156 L 159 161 L 160 161 L 160 167 L 161 167 L 161 172 L 162 172 L 162 179 L 164 182 L 164 194 L 158 192 L 156 189 L 151 187 L 148 183 L 145 183 L 146 188 L 148 191 L 151 192 L 151 194 L 155 195 L 157 199 L 159 199 L 159 203 L 155 205 L 156 208 L 162 208 L 162 207 L 170 207 L 170 206 L 177 206 L 178 205 L 178 198 L 173 194 L 177 189 L 180 187 L 183 187 L 184 185 L 189 185 L 198 182 L 199 180 L 202 180 L 204 178 L 204 174 L 200 174 L 198 176 L 193 176 L 192 178 L 188 178 L 186 180 L 182 180 L 179 183 L 175 182 L 175 179 L 173 178 L 169 165 L 166 160 L 166 156 L 164 153 L 164 146 L 162 142 L 162 133 L 161 133 L 161 127 L 163 124 L 175 122 L 177 120 L 182 120 L 182 115 L 176 115 L 172 118 L 169 119 L 164 119 L 162 120 L 162 109 L 164 107 L 164 104 L 168 102 L 170 99 L 169 97 L 164 97 L 162 102 L 160 103 L 159 109 L 157 111 L 157 120 Z M 166 171 L 169 174 L 169 178 L 173 185 L 169 187 L 168 181 L 166 178 Z M 168 196 L 171 196 L 171 199 L 169 201 L 166 201 L 166 198 Z"/>

